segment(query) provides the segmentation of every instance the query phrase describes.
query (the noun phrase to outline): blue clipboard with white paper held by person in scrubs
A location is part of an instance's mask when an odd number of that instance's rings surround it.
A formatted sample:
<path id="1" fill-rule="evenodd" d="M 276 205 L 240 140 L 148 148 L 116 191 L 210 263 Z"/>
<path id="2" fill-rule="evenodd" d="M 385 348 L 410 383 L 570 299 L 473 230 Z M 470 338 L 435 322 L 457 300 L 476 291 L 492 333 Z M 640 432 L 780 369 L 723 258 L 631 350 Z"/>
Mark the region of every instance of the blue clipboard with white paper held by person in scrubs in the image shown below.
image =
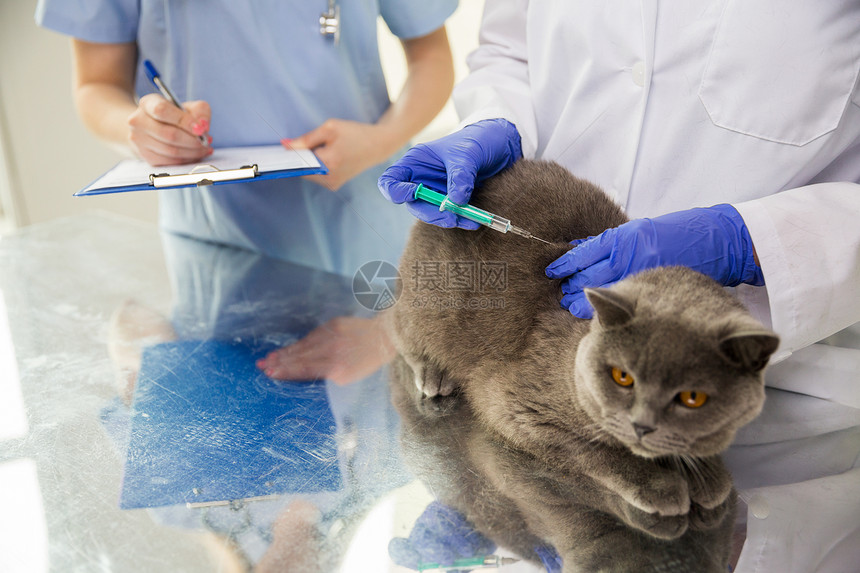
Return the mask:
<path id="1" fill-rule="evenodd" d="M 286 149 L 282 145 L 225 147 L 216 149 L 205 163 L 153 167 L 140 159 L 126 159 L 74 195 L 203 187 L 326 173 L 328 169 L 308 149 Z"/>

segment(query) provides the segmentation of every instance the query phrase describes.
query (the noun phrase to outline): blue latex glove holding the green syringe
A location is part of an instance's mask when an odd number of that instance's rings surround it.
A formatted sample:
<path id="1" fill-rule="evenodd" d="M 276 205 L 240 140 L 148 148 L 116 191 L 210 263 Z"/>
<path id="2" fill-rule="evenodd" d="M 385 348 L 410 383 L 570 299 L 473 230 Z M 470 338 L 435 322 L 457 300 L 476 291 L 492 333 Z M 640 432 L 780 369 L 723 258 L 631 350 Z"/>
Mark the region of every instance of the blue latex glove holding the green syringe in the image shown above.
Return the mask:
<path id="1" fill-rule="evenodd" d="M 520 133 L 504 119 L 485 119 L 435 141 L 407 151 L 379 178 L 379 190 L 394 203 L 406 203 L 409 212 L 440 227 L 475 230 L 480 225 L 436 205 L 415 201 L 419 183 L 465 205 L 476 183 L 492 177 L 523 156 Z"/>

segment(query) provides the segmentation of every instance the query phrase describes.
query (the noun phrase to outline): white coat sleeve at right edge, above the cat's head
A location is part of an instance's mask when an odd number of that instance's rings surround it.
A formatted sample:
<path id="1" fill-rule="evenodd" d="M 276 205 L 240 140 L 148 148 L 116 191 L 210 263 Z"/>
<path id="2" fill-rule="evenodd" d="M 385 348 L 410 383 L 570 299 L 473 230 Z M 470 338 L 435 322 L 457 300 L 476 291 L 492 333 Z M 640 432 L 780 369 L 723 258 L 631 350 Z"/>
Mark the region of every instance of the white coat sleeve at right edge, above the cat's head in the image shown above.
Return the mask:
<path id="1" fill-rule="evenodd" d="M 808 185 L 735 207 L 766 284 L 766 296 L 754 287 L 739 295 L 754 313 L 769 311 L 759 318 L 782 339 L 775 360 L 860 322 L 860 184 Z"/>

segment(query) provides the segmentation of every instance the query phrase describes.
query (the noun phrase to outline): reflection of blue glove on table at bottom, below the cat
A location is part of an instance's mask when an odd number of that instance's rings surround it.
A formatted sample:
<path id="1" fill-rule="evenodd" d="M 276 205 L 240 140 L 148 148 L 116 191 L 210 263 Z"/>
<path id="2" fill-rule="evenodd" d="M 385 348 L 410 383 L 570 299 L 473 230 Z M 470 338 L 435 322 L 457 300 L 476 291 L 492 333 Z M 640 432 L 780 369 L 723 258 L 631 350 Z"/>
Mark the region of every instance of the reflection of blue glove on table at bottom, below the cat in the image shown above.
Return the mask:
<path id="1" fill-rule="evenodd" d="M 408 539 L 395 537 L 388 554 L 398 565 L 453 565 L 456 559 L 490 555 L 496 544 L 478 532 L 458 511 L 434 501 L 415 522 Z"/>

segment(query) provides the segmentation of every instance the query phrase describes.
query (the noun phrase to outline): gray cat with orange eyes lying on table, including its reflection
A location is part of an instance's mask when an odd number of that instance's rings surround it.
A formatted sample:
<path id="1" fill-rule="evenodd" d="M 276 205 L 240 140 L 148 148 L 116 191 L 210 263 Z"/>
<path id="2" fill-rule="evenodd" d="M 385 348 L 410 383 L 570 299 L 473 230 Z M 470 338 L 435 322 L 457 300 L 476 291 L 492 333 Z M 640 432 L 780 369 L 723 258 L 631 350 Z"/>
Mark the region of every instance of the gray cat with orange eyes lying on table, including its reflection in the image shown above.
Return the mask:
<path id="1" fill-rule="evenodd" d="M 545 267 L 627 219 L 556 164 L 519 161 L 473 204 L 551 244 L 413 230 L 388 314 L 393 384 L 404 431 L 468 466 L 440 497 L 526 558 L 554 546 L 568 572 L 724 573 L 735 494 L 719 454 L 762 408 L 776 335 L 682 267 L 588 290 L 593 320 L 564 310 Z"/>

